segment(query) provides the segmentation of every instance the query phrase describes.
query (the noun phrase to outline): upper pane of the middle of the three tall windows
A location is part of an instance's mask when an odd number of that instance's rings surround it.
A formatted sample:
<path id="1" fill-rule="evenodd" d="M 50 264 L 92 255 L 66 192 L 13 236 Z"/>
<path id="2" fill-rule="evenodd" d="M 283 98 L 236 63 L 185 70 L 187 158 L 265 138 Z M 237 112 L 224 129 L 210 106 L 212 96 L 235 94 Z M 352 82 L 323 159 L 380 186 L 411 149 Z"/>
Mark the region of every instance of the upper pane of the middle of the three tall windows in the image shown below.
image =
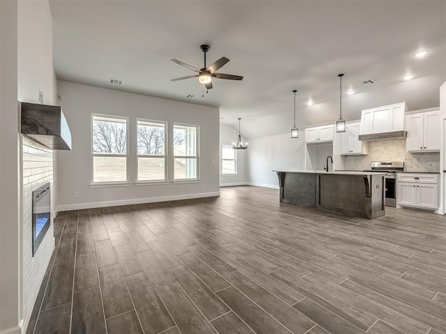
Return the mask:
<path id="1" fill-rule="evenodd" d="M 138 154 L 164 155 L 165 126 L 138 121 Z"/>

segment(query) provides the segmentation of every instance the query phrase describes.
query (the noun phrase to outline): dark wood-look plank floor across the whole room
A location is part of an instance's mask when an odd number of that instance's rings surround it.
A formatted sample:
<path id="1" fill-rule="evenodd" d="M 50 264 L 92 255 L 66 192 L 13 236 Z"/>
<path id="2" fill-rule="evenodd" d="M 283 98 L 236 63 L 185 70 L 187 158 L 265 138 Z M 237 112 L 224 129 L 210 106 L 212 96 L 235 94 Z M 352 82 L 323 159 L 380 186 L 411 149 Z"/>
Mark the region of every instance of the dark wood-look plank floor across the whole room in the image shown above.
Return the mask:
<path id="1" fill-rule="evenodd" d="M 27 333 L 446 333 L 446 220 L 278 191 L 61 212 Z"/>

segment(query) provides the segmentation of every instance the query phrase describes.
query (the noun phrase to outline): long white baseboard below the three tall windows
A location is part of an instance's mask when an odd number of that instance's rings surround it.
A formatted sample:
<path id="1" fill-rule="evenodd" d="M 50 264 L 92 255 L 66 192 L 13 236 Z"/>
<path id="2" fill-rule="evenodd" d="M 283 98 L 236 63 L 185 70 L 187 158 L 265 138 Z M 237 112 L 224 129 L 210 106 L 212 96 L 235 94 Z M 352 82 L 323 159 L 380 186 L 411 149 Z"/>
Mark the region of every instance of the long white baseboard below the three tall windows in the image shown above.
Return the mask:
<path id="1" fill-rule="evenodd" d="M 205 198 L 205 197 L 215 197 L 215 196 L 220 196 L 220 191 L 214 191 L 211 193 L 190 193 L 190 194 L 186 194 L 186 195 L 149 197 L 149 198 L 132 198 L 130 200 L 108 200 L 105 202 L 90 202 L 90 203 L 58 205 L 56 212 L 68 211 L 68 210 L 93 209 L 95 207 L 116 207 L 117 205 L 132 205 L 132 204 L 144 204 L 144 203 L 154 203 L 154 202 L 167 202 L 169 200 L 190 200 L 192 198 Z M 3 334 L 3 333 L 0 333 L 0 334 Z"/>

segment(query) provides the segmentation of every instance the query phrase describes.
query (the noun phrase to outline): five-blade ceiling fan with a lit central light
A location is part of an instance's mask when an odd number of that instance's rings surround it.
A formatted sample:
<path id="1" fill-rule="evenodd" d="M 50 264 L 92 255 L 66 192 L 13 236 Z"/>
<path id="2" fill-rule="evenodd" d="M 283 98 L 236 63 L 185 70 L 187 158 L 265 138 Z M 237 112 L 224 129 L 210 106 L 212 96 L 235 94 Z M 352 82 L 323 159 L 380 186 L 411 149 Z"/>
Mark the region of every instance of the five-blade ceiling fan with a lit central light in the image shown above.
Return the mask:
<path id="1" fill-rule="evenodd" d="M 226 57 L 222 57 L 218 61 L 215 61 L 214 63 L 212 63 L 211 65 L 206 67 L 206 52 L 209 51 L 210 46 L 209 45 L 201 45 L 200 49 L 204 53 L 204 67 L 201 68 L 201 70 L 199 70 L 198 68 L 195 68 L 191 65 L 187 65 L 186 63 L 183 63 L 182 61 L 177 61 L 176 59 L 171 59 L 171 61 L 173 61 L 174 63 L 177 63 L 178 65 L 188 68 L 189 70 L 197 72 L 197 74 L 188 75 L 187 77 L 171 79 L 171 81 L 178 81 L 178 80 L 184 80 L 184 79 L 198 77 L 201 84 L 204 84 L 204 86 L 206 86 L 206 89 L 210 89 L 210 88 L 212 88 L 212 78 L 228 79 L 228 80 L 242 80 L 243 79 L 243 77 L 240 77 L 240 75 L 223 74 L 223 73 L 215 72 L 219 68 L 226 65 L 226 63 L 228 63 L 229 59 Z"/>

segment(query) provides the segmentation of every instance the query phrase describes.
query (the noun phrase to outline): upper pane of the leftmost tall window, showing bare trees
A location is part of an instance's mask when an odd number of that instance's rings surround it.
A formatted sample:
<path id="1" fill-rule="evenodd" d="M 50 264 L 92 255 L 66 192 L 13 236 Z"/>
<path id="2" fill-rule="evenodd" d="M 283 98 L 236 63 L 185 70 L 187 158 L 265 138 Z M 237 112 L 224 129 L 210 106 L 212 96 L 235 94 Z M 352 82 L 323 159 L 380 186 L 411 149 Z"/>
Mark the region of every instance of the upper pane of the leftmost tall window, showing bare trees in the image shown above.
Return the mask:
<path id="1" fill-rule="evenodd" d="M 127 153 L 127 120 L 93 116 L 93 152 Z"/>

